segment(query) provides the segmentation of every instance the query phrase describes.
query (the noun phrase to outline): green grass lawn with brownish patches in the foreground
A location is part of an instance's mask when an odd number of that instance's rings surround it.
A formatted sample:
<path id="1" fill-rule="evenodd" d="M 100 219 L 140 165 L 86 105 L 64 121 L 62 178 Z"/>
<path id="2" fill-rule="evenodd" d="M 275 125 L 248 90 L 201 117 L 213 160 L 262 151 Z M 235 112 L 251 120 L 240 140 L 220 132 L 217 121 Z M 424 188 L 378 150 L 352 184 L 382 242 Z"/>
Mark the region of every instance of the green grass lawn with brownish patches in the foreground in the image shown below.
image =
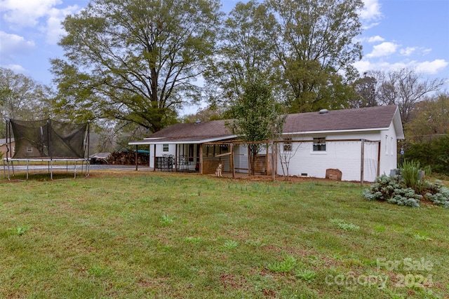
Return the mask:
<path id="1" fill-rule="evenodd" d="M 356 183 L 0 182 L 0 298 L 447 298 L 449 210 Z"/>

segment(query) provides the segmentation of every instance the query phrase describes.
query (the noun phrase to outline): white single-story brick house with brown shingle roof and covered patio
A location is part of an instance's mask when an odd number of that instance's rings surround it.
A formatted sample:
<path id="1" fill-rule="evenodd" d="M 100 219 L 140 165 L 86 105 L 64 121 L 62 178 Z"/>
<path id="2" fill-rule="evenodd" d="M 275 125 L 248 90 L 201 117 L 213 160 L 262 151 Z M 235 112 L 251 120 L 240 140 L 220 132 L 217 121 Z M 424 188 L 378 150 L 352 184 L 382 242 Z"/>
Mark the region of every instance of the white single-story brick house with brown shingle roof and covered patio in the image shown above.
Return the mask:
<path id="1" fill-rule="evenodd" d="M 248 173 L 248 146 L 230 132 L 227 121 L 178 123 L 129 144 L 149 145 L 154 170 L 213 174 L 222 162 L 223 172 Z M 282 137 L 267 141 L 257 155 L 255 170 L 374 181 L 397 167 L 397 140 L 403 138 L 396 105 L 290 114 Z"/>

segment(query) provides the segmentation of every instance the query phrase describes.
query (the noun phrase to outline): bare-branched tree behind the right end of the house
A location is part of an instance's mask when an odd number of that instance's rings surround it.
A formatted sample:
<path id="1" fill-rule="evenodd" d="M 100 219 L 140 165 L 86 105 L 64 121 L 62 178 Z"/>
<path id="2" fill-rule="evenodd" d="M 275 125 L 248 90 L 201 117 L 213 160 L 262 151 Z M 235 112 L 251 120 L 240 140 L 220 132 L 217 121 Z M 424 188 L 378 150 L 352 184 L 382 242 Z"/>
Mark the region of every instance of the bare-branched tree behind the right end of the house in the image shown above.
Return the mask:
<path id="1" fill-rule="evenodd" d="M 397 104 L 403 123 L 407 123 L 416 104 L 445 83 L 444 79 L 424 79 L 413 69 L 390 71 L 380 85 L 379 103 Z"/>

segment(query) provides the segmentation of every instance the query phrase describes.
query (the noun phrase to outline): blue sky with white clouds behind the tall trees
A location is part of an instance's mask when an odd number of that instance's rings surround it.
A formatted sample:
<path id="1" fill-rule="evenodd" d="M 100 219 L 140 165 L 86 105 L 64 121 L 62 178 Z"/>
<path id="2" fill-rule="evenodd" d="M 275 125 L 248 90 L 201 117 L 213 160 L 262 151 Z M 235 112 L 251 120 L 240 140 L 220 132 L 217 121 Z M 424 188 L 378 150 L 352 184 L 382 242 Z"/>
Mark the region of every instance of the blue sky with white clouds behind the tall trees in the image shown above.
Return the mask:
<path id="1" fill-rule="evenodd" d="M 222 0 L 229 11 L 236 1 Z M 355 67 L 390 71 L 409 67 L 424 78 L 449 79 L 449 0 L 364 0 L 360 12 L 363 60 Z M 0 67 L 51 84 L 50 58 L 65 34 L 60 22 L 88 0 L 0 0 Z M 449 84 L 447 85 L 449 89 Z"/>

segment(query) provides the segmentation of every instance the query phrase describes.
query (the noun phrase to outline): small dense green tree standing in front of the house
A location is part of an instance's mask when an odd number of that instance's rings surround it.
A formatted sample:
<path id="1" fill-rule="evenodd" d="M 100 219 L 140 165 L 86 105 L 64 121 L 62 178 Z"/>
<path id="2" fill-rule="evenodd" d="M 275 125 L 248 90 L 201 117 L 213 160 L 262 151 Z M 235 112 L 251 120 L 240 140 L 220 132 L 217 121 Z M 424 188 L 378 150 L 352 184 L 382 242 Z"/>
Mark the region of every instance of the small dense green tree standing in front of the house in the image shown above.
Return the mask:
<path id="1" fill-rule="evenodd" d="M 267 80 L 262 75 L 243 85 L 243 94 L 232 106 L 234 120 L 227 123 L 249 148 L 250 175 L 254 174 L 255 158 L 264 147 L 262 141 L 269 142 L 282 132 L 286 116 L 281 104 L 276 102 Z"/>

